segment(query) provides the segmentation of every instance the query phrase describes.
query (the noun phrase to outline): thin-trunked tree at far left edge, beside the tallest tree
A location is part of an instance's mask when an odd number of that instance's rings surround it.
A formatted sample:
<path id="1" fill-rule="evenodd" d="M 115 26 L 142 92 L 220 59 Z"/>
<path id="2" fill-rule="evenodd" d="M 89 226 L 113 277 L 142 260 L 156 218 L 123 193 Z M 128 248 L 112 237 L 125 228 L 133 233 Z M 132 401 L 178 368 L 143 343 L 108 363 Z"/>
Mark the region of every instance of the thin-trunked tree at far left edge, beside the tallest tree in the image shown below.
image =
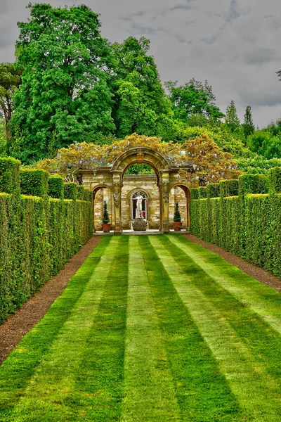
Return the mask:
<path id="1" fill-rule="evenodd" d="M 13 94 L 20 87 L 22 69 L 15 69 L 13 63 L 0 63 L 0 110 L 5 119 L 6 140 L 10 141 L 11 132 L 8 123 L 13 113 Z"/>

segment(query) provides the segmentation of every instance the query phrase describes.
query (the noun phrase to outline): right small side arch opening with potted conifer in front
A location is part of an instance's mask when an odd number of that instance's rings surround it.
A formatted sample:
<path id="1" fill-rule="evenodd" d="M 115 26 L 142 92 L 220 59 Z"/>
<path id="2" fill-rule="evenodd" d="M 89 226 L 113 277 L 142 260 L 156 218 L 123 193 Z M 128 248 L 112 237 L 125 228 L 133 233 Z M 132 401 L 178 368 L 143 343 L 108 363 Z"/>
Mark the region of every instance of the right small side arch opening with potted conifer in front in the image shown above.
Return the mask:
<path id="1" fill-rule="evenodd" d="M 169 203 L 169 228 L 173 229 L 174 210 L 178 203 L 178 208 L 181 214 L 181 221 L 183 223 L 182 229 L 188 230 L 190 226 L 190 190 L 187 186 L 178 184 L 171 188 L 170 203 Z"/>

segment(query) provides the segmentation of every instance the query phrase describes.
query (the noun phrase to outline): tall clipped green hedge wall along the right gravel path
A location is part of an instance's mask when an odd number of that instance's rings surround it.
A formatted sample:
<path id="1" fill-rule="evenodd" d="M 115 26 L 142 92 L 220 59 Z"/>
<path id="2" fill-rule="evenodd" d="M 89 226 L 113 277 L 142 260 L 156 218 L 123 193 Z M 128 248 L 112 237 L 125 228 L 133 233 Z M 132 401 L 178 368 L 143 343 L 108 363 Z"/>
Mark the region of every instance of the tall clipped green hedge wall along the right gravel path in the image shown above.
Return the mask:
<path id="1" fill-rule="evenodd" d="M 280 167 L 192 189 L 190 231 L 281 277 L 280 191 Z"/>

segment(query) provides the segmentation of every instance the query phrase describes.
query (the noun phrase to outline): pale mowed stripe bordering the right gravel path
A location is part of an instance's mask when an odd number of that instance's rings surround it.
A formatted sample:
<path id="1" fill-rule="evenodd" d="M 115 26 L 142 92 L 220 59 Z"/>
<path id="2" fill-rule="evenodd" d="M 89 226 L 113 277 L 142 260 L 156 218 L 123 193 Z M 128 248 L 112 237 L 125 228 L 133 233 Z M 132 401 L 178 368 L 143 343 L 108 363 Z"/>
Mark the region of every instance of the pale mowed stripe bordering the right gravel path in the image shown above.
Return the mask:
<path id="1" fill-rule="evenodd" d="M 170 241 L 189 255 L 195 264 L 237 300 L 251 307 L 278 333 L 281 333 L 281 295 L 277 290 L 265 286 L 215 253 L 182 236 L 178 239 L 171 236 Z"/>

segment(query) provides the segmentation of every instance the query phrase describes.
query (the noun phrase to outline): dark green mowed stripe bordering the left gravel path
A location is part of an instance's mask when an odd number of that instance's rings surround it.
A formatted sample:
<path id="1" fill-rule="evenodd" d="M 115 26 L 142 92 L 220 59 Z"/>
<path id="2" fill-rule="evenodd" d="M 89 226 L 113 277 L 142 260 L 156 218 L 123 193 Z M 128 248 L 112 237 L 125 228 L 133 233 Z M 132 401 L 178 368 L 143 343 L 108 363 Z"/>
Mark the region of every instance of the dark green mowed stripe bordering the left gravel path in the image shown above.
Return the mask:
<path id="1" fill-rule="evenodd" d="M 100 261 L 100 256 L 107 248 L 108 241 L 109 239 L 104 239 L 86 258 L 44 318 L 22 338 L 18 347 L 0 366 L 0 421 L 4 420 L 5 415 L 24 394 L 27 381 L 32 377 L 39 362 L 44 359 L 44 355 L 67 320 L 72 307 Z"/>

